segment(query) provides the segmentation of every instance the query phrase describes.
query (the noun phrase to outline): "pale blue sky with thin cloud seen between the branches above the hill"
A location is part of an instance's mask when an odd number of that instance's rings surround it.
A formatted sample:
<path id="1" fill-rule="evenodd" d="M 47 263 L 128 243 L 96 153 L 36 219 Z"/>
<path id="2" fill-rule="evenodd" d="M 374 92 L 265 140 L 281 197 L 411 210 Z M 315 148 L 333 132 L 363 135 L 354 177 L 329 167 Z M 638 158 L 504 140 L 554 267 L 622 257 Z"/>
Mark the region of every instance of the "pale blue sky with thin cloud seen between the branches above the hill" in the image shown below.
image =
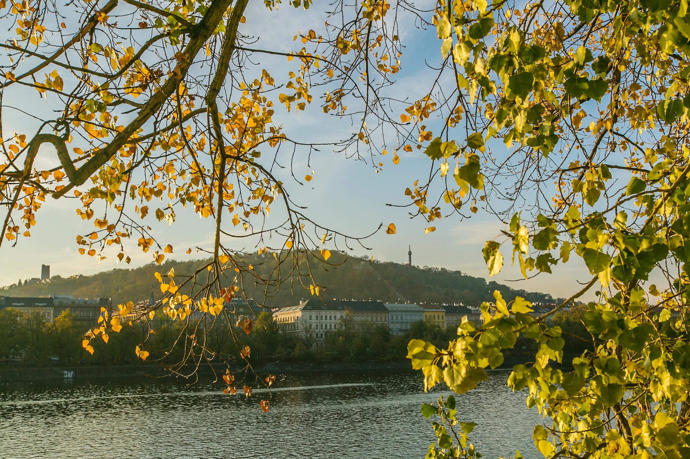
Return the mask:
<path id="1" fill-rule="evenodd" d="M 255 48 L 299 50 L 302 43 L 293 42 L 293 35 L 299 30 L 306 32 L 309 28 L 315 28 L 315 24 L 323 24 L 323 9 L 324 5 L 319 2 L 307 12 L 295 10 L 286 3 L 279 11 L 270 12 L 255 2 L 248 8 L 246 24 L 242 25 L 240 31 L 260 37 L 259 43 L 254 45 Z M 414 101 L 424 94 L 435 75 L 426 62 L 440 59 L 440 41 L 435 35 L 435 30 L 416 28 L 411 18 L 401 19 L 401 40 L 406 48 L 401 58 L 402 70 L 397 74 L 395 91 Z M 262 55 L 255 62 L 259 72 L 262 67 L 268 68 L 277 81 L 286 79 L 286 73 L 290 70 L 284 58 Z M 43 103 L 47 109 L 50 108 L 50 103 L 45 103 L 38 97 L 35 101 L 37 104 Z M 12 94 L 7 94 L 6 103 L 21 106 L 22 103 L 26 104 L 26 101 L 12 101 Z M 325 116 L 318 103 L 313 103 L 297 116 L 288 116 L 280 106 L 275 110 L 274 121 L 284 123 L 286 132 L 302 141 L 333 141 L 348 136 L 354 130 L 346 119 Z M 9 121 L 6 118 L 5 131 L 26 131 L 26 125 L 32 123 L 31 119 L 17 112 L 15 118 Z M 430 125 L 433 125 L 432 123 L 437 125 L 438 120 L 431 121 Z M 413 150 L 411 153 L 400 151 L 399 154 L 401 161 L 398 165 L 391 161 L 392 154 L 377 159 L 384 163 L 384 167 L 381 172 L 375 173 L 370 159 L 366 162 L 346 159 L 346 154 L 324 148 L 321 152 L 311 155 L 308 166 L 304 152 L 298 152 L 294 166 L 295 176 L 304 176 L 313 170 L 314 179 L 308 184 L 299 185 L 284 173 L 284 182 L 293 200 L 299 205 L 306 206 L 306 212 L 310 216 L 324 226 L 342 233 L 363 236 L 371 234 L 380 224 L 385 228 L 389 223 L 395 223 L 396 234 L 386 234 L 382 228 L 365 243 L 367 247 L 371 247 L 371 251 L 355 249 L 352 254 L 373 256 L 380 261 L 406 263 L 409 246 L 413 252 L 414 265 L 460 270 L 472 276 L 488 279 L 488 270 L 482 258 L 482 247 L 485 241 L 500 234 L 504 229 L 504 223 L 485 212 L 481 205 L 477 205 L 477 214 L 465 212 L 470 214 L 471 218 L 461 221 L 457 216 L 451 216 L 435 221 L 432 224 L 436 231 L 425 235 L 424 228 L 428 224 L 422 218 L 411 219 L 408 209 L 390 207 L 386 204 L 400 205 L 410 202 L 408 197 L 404 196 L 405 188 L 411 186 L 415 180 L 423 179 L 425 174 L 428 176 L 431 161 L 420 150 Z M 55 164 L 55 153 L 47 147 L 42 148 L 37 163 L 39 167 Z M 75 212 L 76 207 L 77 202 L 73 199 L 61 198 L 55 201 L 48 198 L 37 213 L 37 225 L 31 230 L 32 237 L 20 238 L 16 247 L 3 244 L 0 248 L 0 285 L 17 283 L 20 278 L 39 277 L 41 264 L 50 265 L 51 275 L 59 274 L 66 277 L 150 263 L 150 253 L 143 254 L 134 249 L 128 251 L 132 258 L 130 265 L 117 265 L 117 252 L 106 252 L 108 258 L 100 263 L 96 263 L 95 258 L 81 256 L 77 252 L 75 237 L 77 234 L 92 231 L 93 223 L 82 221 Z M 448 209 L 444 210 L 448 213 Z M 279 217 L 275 218 L 277 220 Z M 172 226 L 165 222 L 150 225 L 157 237 L 175 247 L 175 252 L 168 255 L 172 258 L 201 258 L 204 254 L 197 254 L 195 251 L 192 254 L 184 252 L 188 247 L 213 247 L 213 221 L 210 218 L 199 218 L 191 210 L 179 210 L 177 221 Z M 502 241 L 500 238 L 497 240 Z M 255 250 L 252 245 L 242 245 L 246 243 L 247 241 L 243 240 L 230 242 L 233 249 Z M 584 263 L 573 257 L 567 265 L 555 266 L 553 274 L 540 274 L 529 281 L 512 282 L 522 276 L 518 267 L 510 266 L 509 246 L 510 244 L 507 244 L 506 249 L 502 251 L 506 266 L 490 280 L 506 283 L 517 289 L 549 293 L 554 297 L 567 297 L 580 290 L 577 281 L 586 282 L 591 278 Z"/>

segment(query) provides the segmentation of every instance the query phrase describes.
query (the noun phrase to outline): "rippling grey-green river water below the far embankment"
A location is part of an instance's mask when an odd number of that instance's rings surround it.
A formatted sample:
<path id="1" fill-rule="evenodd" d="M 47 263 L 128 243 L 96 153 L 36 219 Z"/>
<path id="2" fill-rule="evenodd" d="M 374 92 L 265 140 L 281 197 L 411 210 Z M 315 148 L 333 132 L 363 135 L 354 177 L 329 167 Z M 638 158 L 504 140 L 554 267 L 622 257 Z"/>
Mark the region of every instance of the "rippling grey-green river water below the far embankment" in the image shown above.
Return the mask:
<path id="1" fill-rule="evenodd" d="M 506 387 L 509 371 L 457 397 L 459 420 L 485 458 L 540 458 L 531 434 L 542 422 L 526 393 Z M 255 390 L 186 386 L 170 378 L 66 380 L 0 385 L 0 458 L 422 459 L 434 440 L 420 412 L 420 371 L 278 375 L 268 413 Z"/>

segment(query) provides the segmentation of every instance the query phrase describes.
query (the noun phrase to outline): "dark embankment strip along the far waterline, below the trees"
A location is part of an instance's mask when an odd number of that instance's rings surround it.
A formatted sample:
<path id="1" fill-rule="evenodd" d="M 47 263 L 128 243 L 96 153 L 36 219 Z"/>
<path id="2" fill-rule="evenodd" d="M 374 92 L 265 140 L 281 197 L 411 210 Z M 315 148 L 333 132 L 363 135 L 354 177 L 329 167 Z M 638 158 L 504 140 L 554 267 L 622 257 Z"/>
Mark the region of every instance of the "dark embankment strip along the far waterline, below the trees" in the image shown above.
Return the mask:
<path id="1" fill-rule="evenodd" d="M 573 356 L 564 357 L 565 363 L 570 363 Z M 529 357 L 506 357 L 499 368 L 510 369 L 513 365 L 529 363 L 533 359 Z M 552 363 L 558 367 L 558 364 Z M 564 365 L 567 367 L 568 365 Z M 214 365 L 217 373 L 223 374 L 224 365 Z M 336 371 L 371 371 L 388 369 L 412 369 L 410 360 L 393 362 L 268 362 L 254 367 L 257 373 L 312 373 L 312 372 L 336 372 Z M 237 367 L 239 371 L 239 367 Z M 75 380 L 90 378 L 130 378 L 130 377 L 161 377 L 168 372 L 159 365 L 111 365 L 92 367 L 42 367 L 42 368 L 4 368 L 0 369 L 0 383 L 25 380 Z M 199 368 L 199 376 L 203 378 L 213 377 L 213 369 L 210 365 Z M 220 378 L 220 376 L 219 376 Z"/>

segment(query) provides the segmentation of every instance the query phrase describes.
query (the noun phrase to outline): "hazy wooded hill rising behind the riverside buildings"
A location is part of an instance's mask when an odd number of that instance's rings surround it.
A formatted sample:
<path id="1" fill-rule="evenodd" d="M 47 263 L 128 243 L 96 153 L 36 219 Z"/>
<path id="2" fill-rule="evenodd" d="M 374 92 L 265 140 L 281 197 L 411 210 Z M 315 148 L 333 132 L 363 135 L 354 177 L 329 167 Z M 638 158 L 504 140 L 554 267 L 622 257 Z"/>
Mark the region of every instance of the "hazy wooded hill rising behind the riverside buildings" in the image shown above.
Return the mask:
<path id="1" fill-rule="evenodd" d="M 275 258 L 271 254 L 249 254 L 244 258 L 253 265 L 262 276 L 268 276 L 275 267 Z M 550 294 L 525 292 L 496 283 L 487 282 L 484 278 L 468 276 L 460 271 L 449 271 L 445 268 L 419 267 L 401 265 L 400 263 L 370 261 L 368 258 L 333 253 L 331 262 L 342 261 L 337 267 L 312 267 L 319 286 L 325 292 L 323 298 L 382 300 L 384 303 L 463 303 L 466 306 L 477 306 L 482 301 L 492 301 L 493 291 L 500 290 L 504 298 L 522 296 L 532 302 L 555 303 L 562 298 L 552 298 Z M 48 296 L 48 294 L 74 294 L 75 298 L 112 297 L 113 305 L 126 301 L 148 299 L 151 293 L 157 298 L 161 295 L 155 272 L 165 274 L 175 268 L 177 275 L 188 275 L 204 266 L 208 261 L 175 261 L 168 260 L 163 265 L 150 263 L 135 269 L 112 269 L 92 276 L 52 276 L 49 282 L 30 283 L 28 285 L 10 285 L 0 288 L 0 295 L 6 296 Z M 325 268 L 325 269 L 324 269 Z M 326 269 L 328 269 L 326 271 Z M 228 270 L 228 273 L 232 269 Z M 300 272 L 306 272 L 300 269 Z M 228 274 L 228 282 L 234 276 Z M 181 278 L 177 283 L 181 282 Z M 308 287 L 311 281 L 303 278 Z M 244 287 L 248 296 L 263 300 L 262 289 L 254 285 Z M 295 305 L 299 300 L 311 296 L 308 288 L 302 287 L 295 276 L 286 282 L 274 296 L 266 299 L 266 306 L 284 307 Z"/>

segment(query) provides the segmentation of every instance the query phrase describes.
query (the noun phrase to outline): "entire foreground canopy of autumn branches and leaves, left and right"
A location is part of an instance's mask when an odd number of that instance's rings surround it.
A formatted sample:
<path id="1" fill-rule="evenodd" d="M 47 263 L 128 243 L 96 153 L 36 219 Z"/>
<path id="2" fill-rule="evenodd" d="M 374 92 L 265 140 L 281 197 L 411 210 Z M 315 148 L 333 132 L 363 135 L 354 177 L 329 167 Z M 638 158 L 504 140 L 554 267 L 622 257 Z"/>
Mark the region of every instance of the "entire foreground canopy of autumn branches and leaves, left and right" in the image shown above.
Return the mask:
<path id="1" fill-rule="evenodd" d="M 279 6 L 265 4 L 266 14 Z M 246 6 L 83 1 L 70 3 L 76 14 L 63 20 L 55 14 L 62 7 L 51 3 L 6 5 L 1 20 L 8 29 L 16 23 L 17 37 L 1 45 L 10 54 L 2 90 L 57 97 L 63 110 L 56 119 L 37 111 L 39 132 L 17 132 L 3 143 L 4 243 L 30 236 L 47 196 L 70 194 L 81 203 L 78 213 L 95 221 L 93 232 L 77 237 L 81 252 L 101 256 L 101 248 L 114 245 L 126 260 L 126 245 L 136 239 L 161 263 L 173 248 L 142 222 L 147 215 L 172 222 L 180 206 L 190 205 L 215 218 L 213 259 L 180 283 L 174 271 L 157 274 L 166 293 L 157 314 L 188 324 L 193 310 L 217 317 L 244 285 L 261 285 L 271 296 L 303 263 L 307 287 L 319 294 L 327 286 L 312 273 L 333 263 L 326 243 L 339 248 L 359 240 L 320 226 L 290 201 L 273 164 L 280 148 L 300 142 L 271 119 L 278 104 L 306 110 L 318 92 L 324 112 L 357 119 L 339 147 L 375 155 L 387 146 L 394 163 L 400 150 L 424 149 L 433 161 L 430 179 L 411 183 L 404 195 L 413 216 L 428 221 L 426 232 L 445 218 L 442 211 L 462 218 L 483 205 L 506 224 L 484 247 L 490 275 L 502 269 L 505 246 L 524 277 L 582 259 L 591 280 L 561 307 L 597 289 L 582 320 L 594 350 L 575 358 L 573 371 L 549 365 L 562 360 L 560 327 L 527 316 L 531 304 L 523 298 L 496 292 L 482 305 L 483 325 L 463 324 L 447 349 L 411 341 L 409 356 L 426 387 L 444 381 L 459 394 L 473 389 L 524 334 L 538 344 L 537 359 L 515 367 L 508 383 L 529 387 L 527 406 L 548 417 L 534 430 L 546 458 L 687 456 L 687 1 L 538 1 L 516 8 L 454 0 L 428 12 L 408 2 L 336 2 L 324 26 L 315 26 L 319 32 L 298 34 L 304 48 L 289 53 L 251 48 L 241 27 Z M 433 24 L 439 39 L 428 50 L 438 76 L 411 105 L 384 91 L 400 68 L 398 14 Z M 252 57 L 266 53 L 292 59 L 289 79 L 250 68 Z M 432 126 L 433 117 L 442 125 Z M 54 170 L 34 168 L 43 143 L 57 151 Z M 154 210 L 152 198 L 164 194 L 170 205 Z M 274 203 L 284 220 L 271 226 L 265 216 Z M 386 233 L 395 234 L 393 223 Z M 224 242 L 250 235 L 278 262 L 269 276 Z M 660 281 L 649 285 L 653 271 Z M 236 283 L 221 287 L 228 274 Z M 104 312 L 88 338 L 119 332 L 121 316 L 150 313 L 121 305 L 115 316 Z M 660 326 L 666 322 L 671 326 Z M 213 357 L 197 345 L 199 330 L 179 329 L 185 359 Z M 248 347 L 243 351 L 248 355 Z M 146 359 L 150 351 L 137 347 L 137 355 Z M 423 414 L 441 416 L 428 457 L 475 455 L 467 442 L 473 425 L 457 420 L 455 399 L 425 405 Z"/>

